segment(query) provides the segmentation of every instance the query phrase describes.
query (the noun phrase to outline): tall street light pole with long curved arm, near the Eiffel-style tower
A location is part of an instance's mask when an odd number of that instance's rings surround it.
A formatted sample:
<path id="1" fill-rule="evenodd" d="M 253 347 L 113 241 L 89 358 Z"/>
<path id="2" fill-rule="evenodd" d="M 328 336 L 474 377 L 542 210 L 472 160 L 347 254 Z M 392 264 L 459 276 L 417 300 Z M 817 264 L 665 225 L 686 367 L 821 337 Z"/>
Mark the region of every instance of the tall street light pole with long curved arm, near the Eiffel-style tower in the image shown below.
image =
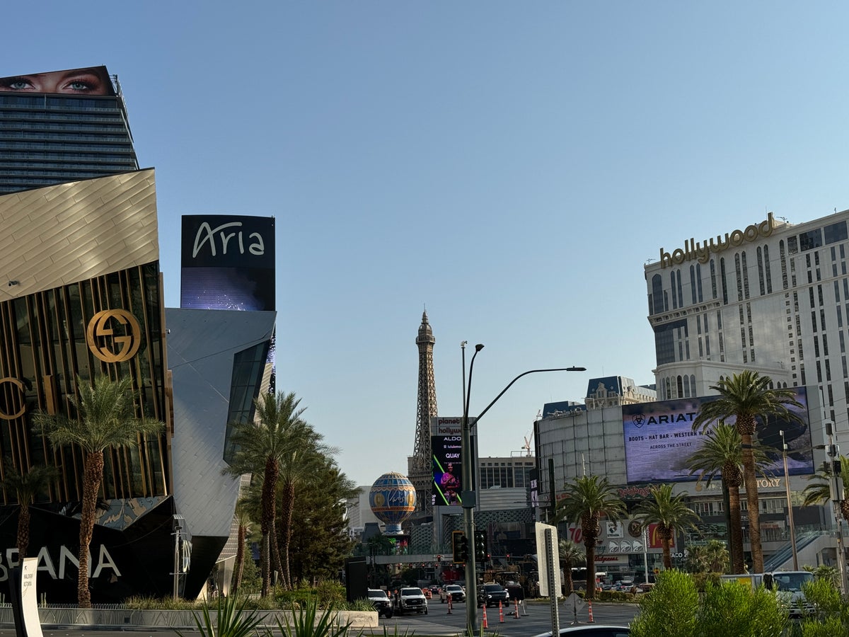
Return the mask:
<path id="1" fill-rule="evenodd" d="M 469 559 L 466 561 L 465 578 L 466 578 L 466 628 L 470 634 L 475 634 L 477 629 L 477 574 L 475 572 L 475 490 L 472 488 L 472 449 L 471 449 L 471 427 L 469 427 L 469 397 L 472 392 L 472 368 L 475 366 L 475 356 L 477 352 L 483 349 L 483 345 L 478 343 L 475 345 L 475 353 L 472 355 L 471 363 L 469 363 L 469 387 L 465 395 L 465 403 L 463 409 L 463 429 L 461 431 L 461 454 L 463 455 L 463 466 L 461 468 L 461 476 L 463 480 L 463 521 L 466 538 L 469 542 Z M 465 350 L 464 350 L 465 351 Z M 465 369 L 465 368 L 464 368 Z M 529 374 L 538 374 L 539 372 L 548 371 L 587 371 L 586 367 L 557 367 L 552 369 L 531 369 L 516 376 L 510 381 L 506 387 L 501 390 L 492 403 L 486 405 L 486 408 L 481 411 L 475 420 L 475 424 L 483 418 L 483 415 L 498 402 L 498 398 L 504 395 L 515 381 L 518 381 L 522 376 Z M 552 493 L 554 497 L 554 493 Z"/>

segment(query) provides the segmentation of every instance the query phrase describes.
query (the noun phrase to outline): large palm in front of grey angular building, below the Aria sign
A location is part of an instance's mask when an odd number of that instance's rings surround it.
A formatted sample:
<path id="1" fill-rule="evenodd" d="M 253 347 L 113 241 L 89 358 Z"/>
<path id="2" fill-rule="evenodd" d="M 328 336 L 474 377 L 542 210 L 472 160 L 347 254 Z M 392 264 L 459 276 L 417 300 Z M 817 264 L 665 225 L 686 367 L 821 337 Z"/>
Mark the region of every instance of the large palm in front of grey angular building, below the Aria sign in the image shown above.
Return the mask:
<path id="1" fill-rule="evenodd" d="M 298 409 L 300 398 L 294 393 L 268 393 L 254 401 L 256 418 L 250 422 L 237 423 L 233 428 L 231 438 L 237 452 L 233 464 L 228 467 L 228 473 L 240 476 L 252 473 L 261 476 L 261 572 L 262 588 L 260 595 L 267 597 L 271 589 L 271 556 L 284 579 L 284 585 L 289 585 L 288 558 L 281 564 L 279 560 L 276 539 L 277 498 L 281 465 L 285 471 L 290 471 L 290 461 L 299 457 L 305 449 L 312 448 L 312 443 L 318 437 L 312 427 L 301 419 L 306 408 Z M 304 467 L 301 467 L 303 471 Z M 284 506 L 286 506 L 284 496 Z M 283 511 L 284 516 L 290 515 Z M 285 555 L 285 551 L 284 551 Z"/>

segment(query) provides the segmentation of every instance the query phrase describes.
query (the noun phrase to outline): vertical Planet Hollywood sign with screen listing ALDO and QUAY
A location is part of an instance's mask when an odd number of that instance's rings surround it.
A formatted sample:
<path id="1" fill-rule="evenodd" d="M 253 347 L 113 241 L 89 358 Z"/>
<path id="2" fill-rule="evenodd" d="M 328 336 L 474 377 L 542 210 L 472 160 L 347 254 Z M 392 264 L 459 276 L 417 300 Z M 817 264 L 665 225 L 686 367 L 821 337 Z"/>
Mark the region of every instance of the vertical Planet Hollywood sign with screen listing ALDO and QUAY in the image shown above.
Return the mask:
<path id="1" fill-rule="evenodd" d="M 469 419 L 474 426 L 474 419 Z M 461 461 L 463 419 L 431 419 L 430 450 L 432 453 L 433 482 L 430 503 L 434 506 L 459 506 L 463 504 L 463 480 Z M 469 436 L 475 448 L 475 437 Z"/>

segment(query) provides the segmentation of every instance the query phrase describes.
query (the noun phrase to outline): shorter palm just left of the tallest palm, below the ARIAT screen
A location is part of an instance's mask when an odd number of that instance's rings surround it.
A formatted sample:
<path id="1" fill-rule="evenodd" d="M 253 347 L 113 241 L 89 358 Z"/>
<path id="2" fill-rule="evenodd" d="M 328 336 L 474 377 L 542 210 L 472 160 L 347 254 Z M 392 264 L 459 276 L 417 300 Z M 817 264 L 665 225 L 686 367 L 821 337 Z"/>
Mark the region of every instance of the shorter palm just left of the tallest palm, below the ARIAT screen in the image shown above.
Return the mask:
<path id="1" fill-rule="evenodd" d="M 762 472 L 771 464 L 761 446 L 752 449 L 755 465 Z M 690 475 L 698 472 L 699 480 L 722 478 L 722 491 L 728 494 L 728 544 L 731 547 L 732 572 L 744 572 L 743 524 L 740 516 L 740 486 L 743 484 L 743 441 L 733 425 L 718 423 L 707 432 L 705 442 L 687 463 Z"/>

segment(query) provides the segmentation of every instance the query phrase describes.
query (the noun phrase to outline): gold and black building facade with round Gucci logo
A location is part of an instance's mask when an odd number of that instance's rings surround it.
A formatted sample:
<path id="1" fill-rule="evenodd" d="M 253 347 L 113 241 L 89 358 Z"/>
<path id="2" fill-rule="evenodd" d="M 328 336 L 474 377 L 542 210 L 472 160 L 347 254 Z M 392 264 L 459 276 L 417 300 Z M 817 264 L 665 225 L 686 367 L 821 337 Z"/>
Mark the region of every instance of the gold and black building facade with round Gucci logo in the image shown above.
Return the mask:
<path id="1" fill-rule="evenodd" d="M 39 591 L 51 601 L 76 599 L 62 574 L 79 545 L 83 454 L 54 450 L 32 431 L 32 414 L 73 418 L 76 379 L 101 374 L 132 377 L 137 414 L 167 426 L 132 448 L 106 451 L 93 601 L 170 590 L 170 558 L 149 550 L 151 538 L 172 544 L 175 512 L 155 195 L 150 169 L 0 196 L 0 477 L 59 468 L 59 480 L 31 505 L 29 556 L 39 557 Z M 0 490 L 3 555 L 15 545 L 18 509 L 15 493 Z M 146 568 L 153 574 L 143 575 Z"/>

